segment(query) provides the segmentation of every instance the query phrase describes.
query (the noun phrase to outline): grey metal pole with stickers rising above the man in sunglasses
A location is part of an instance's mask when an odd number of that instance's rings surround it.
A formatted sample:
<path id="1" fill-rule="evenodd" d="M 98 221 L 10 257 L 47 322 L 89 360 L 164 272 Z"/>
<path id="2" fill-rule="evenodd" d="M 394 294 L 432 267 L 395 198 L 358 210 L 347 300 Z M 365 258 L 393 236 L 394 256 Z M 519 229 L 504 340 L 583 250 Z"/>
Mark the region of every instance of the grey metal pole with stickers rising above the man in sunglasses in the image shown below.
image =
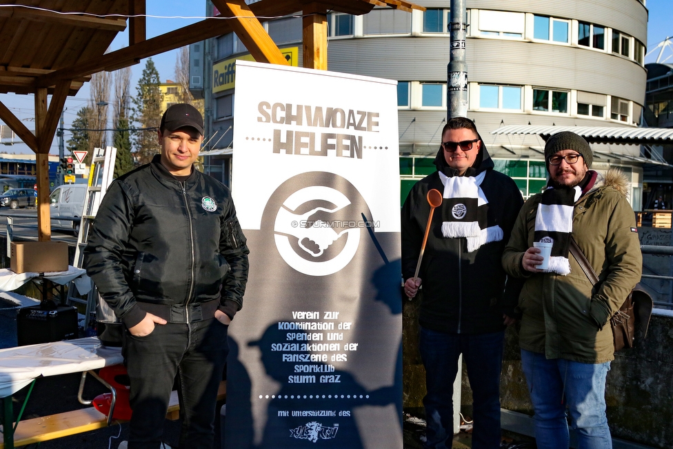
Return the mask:
<path id="1" fill-rule="evenodd" d="M 465 0 L 451 0 L 451 52 L 447 79 L 447 120 L 468 117 L 468 64 L 465 62 Z"/>

